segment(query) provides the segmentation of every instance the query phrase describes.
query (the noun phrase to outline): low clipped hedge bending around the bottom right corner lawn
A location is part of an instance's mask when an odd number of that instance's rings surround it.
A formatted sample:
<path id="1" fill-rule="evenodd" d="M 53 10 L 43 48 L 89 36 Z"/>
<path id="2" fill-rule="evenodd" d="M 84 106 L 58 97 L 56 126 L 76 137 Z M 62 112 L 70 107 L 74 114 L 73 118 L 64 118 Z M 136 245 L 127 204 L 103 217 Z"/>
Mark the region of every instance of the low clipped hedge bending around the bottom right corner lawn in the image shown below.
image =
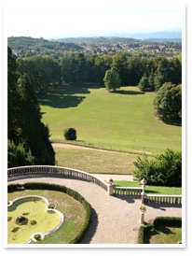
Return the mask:
<path id="1" fill-rule="evenodd" d="M 144 244 L 144 235 L 145 233 L 152 229 L 152 228 L 157 228 L 158 226 L 168 226 L 168 227 L 177 227 L 181 228 L 182 227 L 182 218 L 177 218 L 177 217 L 157 217 L 153 224 L 149 224 L 147 226 L 141 226 L 139 229 L 139 234 L 138 234 L 138 239 L 137 243 L 138 244 Z"/>

